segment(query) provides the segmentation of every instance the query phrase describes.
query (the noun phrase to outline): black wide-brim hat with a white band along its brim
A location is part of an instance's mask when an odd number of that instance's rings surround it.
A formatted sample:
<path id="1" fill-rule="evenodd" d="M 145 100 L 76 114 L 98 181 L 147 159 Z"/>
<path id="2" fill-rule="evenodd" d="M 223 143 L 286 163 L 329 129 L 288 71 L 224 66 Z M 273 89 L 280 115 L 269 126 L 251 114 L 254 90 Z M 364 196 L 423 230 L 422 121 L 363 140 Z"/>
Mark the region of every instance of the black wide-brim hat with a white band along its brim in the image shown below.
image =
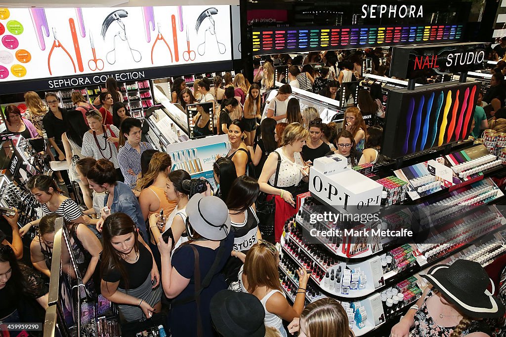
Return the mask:
<path id="1" fill-rule="evenodd" d="M 452 265 L 436 265 L 426 278 L 445 300 L 471 318 L 494 318 L 504 315 L 504 305 L 487 290 L 491 282 L 487 272 L 475 261 L 458 259 Z"/>

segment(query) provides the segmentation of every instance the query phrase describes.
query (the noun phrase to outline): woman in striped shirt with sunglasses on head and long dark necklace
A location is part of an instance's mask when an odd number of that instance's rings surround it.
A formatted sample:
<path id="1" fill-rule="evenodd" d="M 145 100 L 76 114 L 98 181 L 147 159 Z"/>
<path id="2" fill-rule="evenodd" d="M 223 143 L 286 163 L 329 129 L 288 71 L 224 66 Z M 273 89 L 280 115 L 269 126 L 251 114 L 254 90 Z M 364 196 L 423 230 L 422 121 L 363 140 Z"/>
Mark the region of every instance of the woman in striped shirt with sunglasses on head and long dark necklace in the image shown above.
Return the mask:
<path id="1" fill-rule="evenodd" d="M 86 119 L 91 130 L 82 136 L 82 156 L 96 160 L 107 159 L 114 164 L 117 180 L 124 181 L 118 163 L 118 128 L 114 125 L 102 125 L 102 115 L 95 110 L 87 112 Z"/>

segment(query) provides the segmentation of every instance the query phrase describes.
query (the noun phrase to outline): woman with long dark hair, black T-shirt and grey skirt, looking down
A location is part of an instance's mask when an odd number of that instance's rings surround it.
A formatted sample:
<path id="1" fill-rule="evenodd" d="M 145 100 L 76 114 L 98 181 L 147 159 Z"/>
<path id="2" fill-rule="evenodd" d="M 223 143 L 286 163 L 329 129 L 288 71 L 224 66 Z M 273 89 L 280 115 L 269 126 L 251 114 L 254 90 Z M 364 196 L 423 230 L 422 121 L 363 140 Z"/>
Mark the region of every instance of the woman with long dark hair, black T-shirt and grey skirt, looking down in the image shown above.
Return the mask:
<path id="1" fill-rule="evenodd" d="M 127 322 L 138 322 L 160 312 L 160 275 L 134 221 L 124 213 L 108 216 L 102 238 L 102 295 L 118 305 Z"/>

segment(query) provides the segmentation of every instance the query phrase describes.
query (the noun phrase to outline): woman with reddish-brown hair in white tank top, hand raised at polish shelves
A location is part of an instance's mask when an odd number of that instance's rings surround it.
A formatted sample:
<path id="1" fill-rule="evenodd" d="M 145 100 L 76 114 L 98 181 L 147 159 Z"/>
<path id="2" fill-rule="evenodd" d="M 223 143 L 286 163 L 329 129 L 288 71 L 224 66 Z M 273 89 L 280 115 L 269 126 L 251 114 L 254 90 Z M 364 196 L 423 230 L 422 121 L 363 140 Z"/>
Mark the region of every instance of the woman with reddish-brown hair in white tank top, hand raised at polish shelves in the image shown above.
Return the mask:
<path id="1" fill-rule="evenodd" d="M 278 265 L 279 252 L 276 247 L 260 240 L 249 249 L 244 266 L 239 272 L 239 281 L 242 291 L 255 295 L 264 306 L 265 325 L 276 328 L 281 336 L 286 337 L 283 319 L 291 321 L 301 315 L 309 276 L 305 269 L 299 268 L 299 289 L 295 303 L 290 306 L 279 282 Z M 262 272 L 259 272 L 260 270 Z"/>

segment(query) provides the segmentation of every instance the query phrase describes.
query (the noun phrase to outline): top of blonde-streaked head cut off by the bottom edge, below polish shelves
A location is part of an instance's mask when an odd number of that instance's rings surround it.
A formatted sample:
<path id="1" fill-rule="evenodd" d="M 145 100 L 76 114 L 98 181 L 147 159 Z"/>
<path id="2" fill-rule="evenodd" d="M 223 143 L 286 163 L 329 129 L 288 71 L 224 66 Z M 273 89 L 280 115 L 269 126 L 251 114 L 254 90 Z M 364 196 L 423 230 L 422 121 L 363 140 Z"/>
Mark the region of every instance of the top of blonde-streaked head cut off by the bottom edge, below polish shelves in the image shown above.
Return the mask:
<path id="1" fill-rule="evenodd" d="M 299 331 L 299 337 L 349 337 L 355 334 L 350 329 L 348 314 L 338 301 L 324 298 L 308 304 L 300 318 L 288 325 L 290 333 Z"/>

